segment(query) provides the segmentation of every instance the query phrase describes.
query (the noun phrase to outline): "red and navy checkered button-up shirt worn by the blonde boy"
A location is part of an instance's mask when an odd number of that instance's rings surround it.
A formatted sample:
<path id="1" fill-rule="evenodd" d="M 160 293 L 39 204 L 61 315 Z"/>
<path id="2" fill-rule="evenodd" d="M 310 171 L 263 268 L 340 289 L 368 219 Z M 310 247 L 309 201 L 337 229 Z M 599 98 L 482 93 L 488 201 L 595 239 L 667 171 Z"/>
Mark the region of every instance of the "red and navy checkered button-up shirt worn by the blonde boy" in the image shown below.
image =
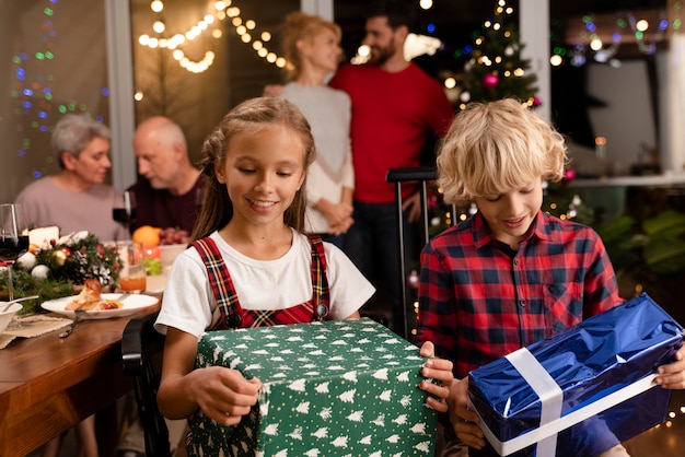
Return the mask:
<path id="1" fill-rule="evenodd" d="M 591 227 L 539 211 L 513 250 L 477 213 L 423 248 L 416 343 L 432 341 L 464 377 L 622 302 Z"/>

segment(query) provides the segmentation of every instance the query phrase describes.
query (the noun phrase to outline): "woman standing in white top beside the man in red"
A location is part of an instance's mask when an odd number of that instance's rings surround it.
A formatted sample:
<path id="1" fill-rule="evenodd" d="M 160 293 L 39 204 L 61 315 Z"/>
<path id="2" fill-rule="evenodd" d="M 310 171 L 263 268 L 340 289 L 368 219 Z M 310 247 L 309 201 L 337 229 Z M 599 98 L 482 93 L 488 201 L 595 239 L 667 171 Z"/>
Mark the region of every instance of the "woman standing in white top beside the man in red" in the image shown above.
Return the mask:
<path id="1" fill-rule="evenodd" d="M 289 62 L 282 97 L 306 117 L 317 152 L 307 175 L 305 232 L 338 247 L 353 222 L 355 190 L 351 102 L 345 92 L 326 85 L 342 56 L 340 36 L 337 24 L 295 12 L 286 17 L 282 38 Z"/>

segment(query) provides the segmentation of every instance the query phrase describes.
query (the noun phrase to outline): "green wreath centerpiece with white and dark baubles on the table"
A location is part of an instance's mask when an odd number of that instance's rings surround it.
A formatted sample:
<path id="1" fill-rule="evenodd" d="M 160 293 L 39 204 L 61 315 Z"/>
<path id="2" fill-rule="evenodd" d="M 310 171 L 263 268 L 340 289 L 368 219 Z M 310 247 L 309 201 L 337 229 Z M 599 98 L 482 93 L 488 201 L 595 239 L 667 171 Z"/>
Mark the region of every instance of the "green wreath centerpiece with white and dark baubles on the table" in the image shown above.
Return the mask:
<path id="1" fill-rule="evenodd" d="M 93 233 L 73 232 L 28 246 L 12 268 L 14 297 L 38 295 L 23 302 L 20 314 L 43 312 L 40 303 L 78 293 L 86 279 L 104 290 L 118 283 L 120 259 L 114 246 L 105 246 Z M 7 266 L 0 269 L 0 298 L 7 300 Z"/>

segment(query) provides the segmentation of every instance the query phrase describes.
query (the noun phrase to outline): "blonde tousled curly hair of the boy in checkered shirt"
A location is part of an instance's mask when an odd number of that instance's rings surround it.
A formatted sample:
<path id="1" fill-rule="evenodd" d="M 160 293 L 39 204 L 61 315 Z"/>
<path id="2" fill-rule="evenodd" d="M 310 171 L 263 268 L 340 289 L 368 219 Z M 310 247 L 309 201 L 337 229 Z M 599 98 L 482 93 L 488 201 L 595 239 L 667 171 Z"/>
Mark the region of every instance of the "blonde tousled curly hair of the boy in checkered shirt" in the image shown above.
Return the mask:
<path id="1" fill-rule="evenodd" d="M 438 155 L 438 184 L 450 203 L 558 181 L 568 161 L 564 137 L 513 98 L 472 103 L 458 113 Z"/>

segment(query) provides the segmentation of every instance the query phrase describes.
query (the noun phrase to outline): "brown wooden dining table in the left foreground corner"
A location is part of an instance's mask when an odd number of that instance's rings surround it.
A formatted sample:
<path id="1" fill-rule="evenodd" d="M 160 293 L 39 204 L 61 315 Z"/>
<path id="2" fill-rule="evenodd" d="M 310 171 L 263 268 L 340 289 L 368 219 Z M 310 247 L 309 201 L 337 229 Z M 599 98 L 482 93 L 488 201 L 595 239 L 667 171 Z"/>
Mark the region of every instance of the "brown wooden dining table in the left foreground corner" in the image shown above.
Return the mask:
<path id="1" fill-rule="evenodd" d="M 121 333 L 132 317 L 158 309 L 83 320 L 68 338 L 57 330 L 0 349 L 0 456 L 25 456 L 96 412 L 100 455 L 114 455 L 116 403 L 133 388 L 123 372 Z"/>

